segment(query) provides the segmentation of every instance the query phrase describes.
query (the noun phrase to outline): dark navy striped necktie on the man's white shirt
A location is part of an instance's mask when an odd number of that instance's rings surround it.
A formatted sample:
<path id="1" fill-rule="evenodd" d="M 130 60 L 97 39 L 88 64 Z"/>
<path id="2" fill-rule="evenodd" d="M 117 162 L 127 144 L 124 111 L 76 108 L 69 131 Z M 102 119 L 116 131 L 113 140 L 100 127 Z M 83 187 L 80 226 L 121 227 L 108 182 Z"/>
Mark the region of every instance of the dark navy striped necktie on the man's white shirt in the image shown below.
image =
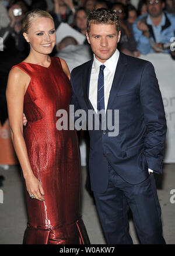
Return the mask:
<path id="1" fill-rule="evenodd" d="M 97 110 L 104 110 L 104 70 L 105 66 L 100 66 L 98 88 L 97 88 Z"/>

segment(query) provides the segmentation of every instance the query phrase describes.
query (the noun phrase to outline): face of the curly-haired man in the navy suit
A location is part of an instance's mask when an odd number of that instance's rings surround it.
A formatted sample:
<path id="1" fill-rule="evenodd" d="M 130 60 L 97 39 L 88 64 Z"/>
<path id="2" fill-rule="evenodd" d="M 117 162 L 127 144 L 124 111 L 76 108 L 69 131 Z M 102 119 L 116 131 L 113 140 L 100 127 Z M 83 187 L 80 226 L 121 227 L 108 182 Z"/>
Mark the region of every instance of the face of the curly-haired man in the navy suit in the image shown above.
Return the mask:
<path id="1" fill-rule="evenodd" d="M 89 35 L 86 33 L 86 36 L 96 59 L 104 63 L 117 49 L 120 31 L 117 32 L 115 24 L 92 23 Z"/>

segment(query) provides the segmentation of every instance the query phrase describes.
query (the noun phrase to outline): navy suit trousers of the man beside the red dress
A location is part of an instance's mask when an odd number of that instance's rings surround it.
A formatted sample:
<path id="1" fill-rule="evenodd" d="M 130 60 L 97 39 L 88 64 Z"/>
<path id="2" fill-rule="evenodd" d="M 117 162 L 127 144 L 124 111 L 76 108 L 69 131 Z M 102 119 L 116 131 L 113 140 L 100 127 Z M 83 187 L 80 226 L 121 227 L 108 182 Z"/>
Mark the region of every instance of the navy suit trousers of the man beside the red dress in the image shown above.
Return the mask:
<path id="1" fill-rule="evenodd" d="M 143 182 L 131 185 L 117 175 L 110 165 L 108 170 L 107 191 L 94 192 L 107 244 L 132 244 L 128 232 L 128 206 L 141 244 L 165 244 L 153 173 Z"/>

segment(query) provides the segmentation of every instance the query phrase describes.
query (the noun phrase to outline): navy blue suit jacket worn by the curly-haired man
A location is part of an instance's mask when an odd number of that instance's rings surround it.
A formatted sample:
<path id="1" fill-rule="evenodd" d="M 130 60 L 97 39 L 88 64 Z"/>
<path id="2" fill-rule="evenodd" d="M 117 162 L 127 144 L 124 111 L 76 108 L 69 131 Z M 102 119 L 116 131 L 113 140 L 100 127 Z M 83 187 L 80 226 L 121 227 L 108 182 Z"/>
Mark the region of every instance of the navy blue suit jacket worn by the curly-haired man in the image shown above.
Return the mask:
<path id="1" fill-rule="evenodd" d="M 75 110 L 93 109 L 89 81 L 93 60 L 72 70 L 72 99 Z M 107 110 L 119 110 L 119 134 L 89 131 L 90 182 L 95 192 L 108 185 L 108 163 L 131 184 L 148 178 L 148 168 L 162 172 L 166 118 L 162 95 L 152 63 L 120 53 L 108 98 Z"/>

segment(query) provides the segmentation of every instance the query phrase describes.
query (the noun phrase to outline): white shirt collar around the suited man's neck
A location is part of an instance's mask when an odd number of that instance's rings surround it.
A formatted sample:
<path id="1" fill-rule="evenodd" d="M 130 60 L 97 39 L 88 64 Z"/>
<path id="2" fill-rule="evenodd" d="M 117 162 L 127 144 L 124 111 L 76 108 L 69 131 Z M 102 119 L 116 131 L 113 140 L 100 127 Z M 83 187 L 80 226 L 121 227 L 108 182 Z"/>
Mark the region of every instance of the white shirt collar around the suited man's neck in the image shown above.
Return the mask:
<path id="1" fill-rule="evenodd" d="M 99 60 L 96 59 L 95 54 L 93 54 L 93 65 L 95 69 L 99 71 L 100 66 L 104 64 L 105 67 L 112 73 L 115 67 L 117 66 L 119 54 L 120 52 L 118 51 L 118 49 L 116 49 L 114 54 L 110 57 L 110 59 L 106 60 L 106 62 L 104 63 L 99 62 Z"/>

